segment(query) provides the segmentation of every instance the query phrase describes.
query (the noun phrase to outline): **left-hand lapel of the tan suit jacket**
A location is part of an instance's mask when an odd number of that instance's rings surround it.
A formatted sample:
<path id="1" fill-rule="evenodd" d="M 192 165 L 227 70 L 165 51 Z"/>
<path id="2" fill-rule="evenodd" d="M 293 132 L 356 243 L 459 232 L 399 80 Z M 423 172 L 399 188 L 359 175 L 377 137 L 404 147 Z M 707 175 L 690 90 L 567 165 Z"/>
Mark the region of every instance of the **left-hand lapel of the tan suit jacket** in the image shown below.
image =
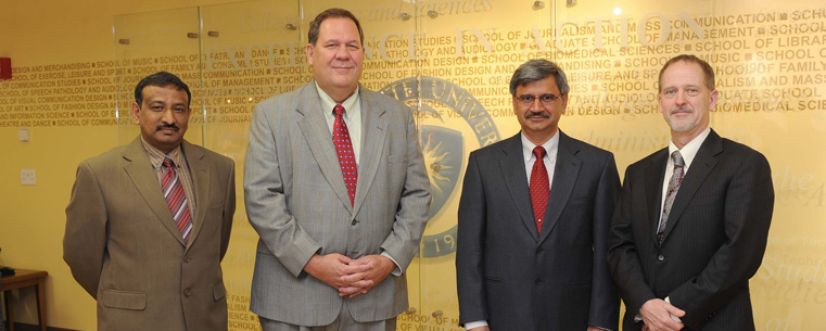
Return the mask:
<path id="1" fill-rule="evenodd" d="M 149 156 L 147 156 L 147 151 L 143 150 L 140 137 L 126 148 L 123 157 L 126 163 L 124 170 L 129 176 L 129 179 L 131 179 L 135 188 L 138 189 L 143 201 L 155 213 L 158 221 L 183 245 L 183 237 L 180 235 L 180 231 L 175 227 L 169 205 L 166 204 L 164 194 L 161 192 L 161 183 L 157 182 L 157 176 L 152 168 L 152 164 L 149 163 Z"/>

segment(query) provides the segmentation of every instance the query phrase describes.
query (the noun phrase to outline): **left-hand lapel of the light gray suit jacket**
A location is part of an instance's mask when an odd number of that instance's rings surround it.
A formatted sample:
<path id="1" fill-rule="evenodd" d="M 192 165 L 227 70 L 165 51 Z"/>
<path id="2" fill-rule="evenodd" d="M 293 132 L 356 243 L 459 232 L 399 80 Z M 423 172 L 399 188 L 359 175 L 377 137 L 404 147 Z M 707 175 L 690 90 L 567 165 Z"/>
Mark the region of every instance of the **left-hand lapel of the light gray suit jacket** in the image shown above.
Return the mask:
<path id="1" fill-rule="evenodd" d="M 332 187 L 333 192 L 339 196 L 342 204 L 346 206 L 347 211 L 353 212 L 347 188 L 344 184 L 344 176 L 341 173 L 341 165 L 339 165 L 339 157 L 333 147 L 332 135 L 325 119 L 325 110 L 321 109 L 315 81 L 310 81 L 310 84 L 302 87 L 295 111 L 303 115 L 298 118 L 298 127 L 304 135 L 304 139 L 307 140 L 307 144 L 309 144 L 313 157 L 316 158 L 316 163 L 321 168 L 321 174 L 330 182 L 330 187 Z M 332 110 L 330 111 L 332 112 Z"/>

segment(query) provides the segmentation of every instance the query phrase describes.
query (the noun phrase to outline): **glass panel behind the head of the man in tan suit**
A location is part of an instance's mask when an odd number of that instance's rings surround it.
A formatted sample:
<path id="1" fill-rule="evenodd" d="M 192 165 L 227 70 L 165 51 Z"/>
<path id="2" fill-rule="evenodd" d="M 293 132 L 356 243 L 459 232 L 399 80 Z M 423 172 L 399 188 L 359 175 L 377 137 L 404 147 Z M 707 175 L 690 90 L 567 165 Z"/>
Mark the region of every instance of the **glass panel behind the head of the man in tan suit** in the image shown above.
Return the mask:
<path id="1" fill-rule="evenodd" d="M 117 15 L 113 18 L 114 58 L 118 63 L 117 86 L 118 144 L 139 135 L 129 113 L 135 102 L 135 86 L 158 71 L 178 75 L 192 91 L 191 116 L 186 139 L 201 144 L 202 123 L 198 8 Z M 126 117 L 127 119 L 124 119 Z"/>

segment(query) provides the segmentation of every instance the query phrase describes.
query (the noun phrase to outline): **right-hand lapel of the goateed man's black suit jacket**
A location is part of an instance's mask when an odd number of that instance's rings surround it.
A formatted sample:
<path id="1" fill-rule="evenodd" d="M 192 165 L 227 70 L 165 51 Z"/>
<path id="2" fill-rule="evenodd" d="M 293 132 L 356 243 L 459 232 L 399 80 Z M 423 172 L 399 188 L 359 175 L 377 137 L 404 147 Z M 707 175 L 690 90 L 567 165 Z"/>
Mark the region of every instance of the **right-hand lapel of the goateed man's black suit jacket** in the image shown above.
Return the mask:
<path id="1" fill-rule="evenodd" d="M 674 196 L 674 204 L 672 204 L 671 212 L 669 213 L 669 222 L 665 225 L 665 231 L 663 232 L 663 241 L 665 241 L 671 230 L 679 221 L 679 216 L 683 215 L 697 190 L 717 165 L 715 155 L 721 152 L 723 152 L 723 140 L 714 130 L 711 130 L 706 141 L 702 142 L 702 145 L 697 151 L 697 156 L 691 161 L 691 167 L 688 168 L 688 173 L 686 173 L 683 182 L 679 184 L 677 196 Z"/>

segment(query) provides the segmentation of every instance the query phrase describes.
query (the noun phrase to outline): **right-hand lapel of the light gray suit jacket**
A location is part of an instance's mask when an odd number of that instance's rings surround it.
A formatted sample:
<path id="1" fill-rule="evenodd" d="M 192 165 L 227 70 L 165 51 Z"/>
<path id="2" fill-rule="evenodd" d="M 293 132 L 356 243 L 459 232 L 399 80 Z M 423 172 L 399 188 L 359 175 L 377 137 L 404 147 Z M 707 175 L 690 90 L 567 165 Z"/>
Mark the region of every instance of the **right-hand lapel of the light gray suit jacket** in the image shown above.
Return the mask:
<path id="1" fill-rule="evenodd" d="M 356 184 L 356 199 L 354 201 L 353 217 L 356 217 L 358 209 L 367 199 L 367 192 L 376 179 L 376 171 L 381 158 L 381 152 L 384 149 L 385 137 L 387 135 L 387 122 L 384 120 L 385 110 L 374 104 L 374 100 L 364 87 L 359 87 L 361 93 L 361 155 L 358 162 L 358 182 Z M 418 139 L 418 137 L 417 137 Z"/>

